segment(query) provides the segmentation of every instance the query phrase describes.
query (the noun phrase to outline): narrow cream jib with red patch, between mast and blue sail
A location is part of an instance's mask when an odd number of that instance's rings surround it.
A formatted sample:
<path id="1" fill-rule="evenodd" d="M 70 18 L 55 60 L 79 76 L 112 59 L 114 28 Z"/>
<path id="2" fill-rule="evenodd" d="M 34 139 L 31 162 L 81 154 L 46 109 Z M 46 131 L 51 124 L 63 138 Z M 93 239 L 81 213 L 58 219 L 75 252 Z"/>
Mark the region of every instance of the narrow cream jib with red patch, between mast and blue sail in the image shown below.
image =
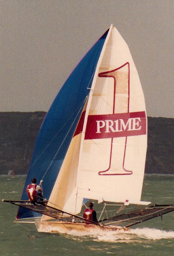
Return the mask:
<path id="1" fill-rule="evenodd" d="M 106 41 L 108 40 L 108 35 L 106 37 L 105 43 L 103 44 L 102 51 L 104 51 Z M 98 63 L 96 65 L 94 76 L 96 76 L 96 70 L 99 66 L 101 55 L 99 57 Z M 93 76 L 93 78 L 94 78 Z M 93 82 L 91 80 L 91 84 Z M 52 207 L 59 207 L 73 214 L 79 213 L 81 210 L 83 196 L 78 197 L 77 205 L 77 177 L 78 177 L 78 167 L 79 167 L 79 154 L 81 148 L 82 134 L 83 134 L 83 123 L 85 118 L 85 112 L 88 105 L 88 100 L 83 108 L 81 117 L 79 119 L 77 128 L 75 130 L 74 136 L 71 140 L 65 159 L 61 166 L 59 175 L 55 182 L 54 188 L 52 190 L 51 196 L 49 198 L 48 205 Z M 47 216 L 42 216 L 42 220 L 47 220 Z"/>

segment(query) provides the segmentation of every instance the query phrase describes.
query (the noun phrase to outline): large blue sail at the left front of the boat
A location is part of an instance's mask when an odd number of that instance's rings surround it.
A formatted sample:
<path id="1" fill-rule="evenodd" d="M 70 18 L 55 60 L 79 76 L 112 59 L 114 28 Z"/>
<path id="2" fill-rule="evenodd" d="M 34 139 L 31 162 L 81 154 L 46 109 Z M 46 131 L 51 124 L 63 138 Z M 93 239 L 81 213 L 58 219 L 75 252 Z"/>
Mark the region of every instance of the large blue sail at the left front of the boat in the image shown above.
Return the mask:
<path id="1" fill-rule="evenodd" d="M 37 137 L 22 200 L 28 199 L 26 187 L 33 177 L 37 182 L 43 180 L 43 196 L 49 198 L 87 101 L 107 33 L 108 30 L 79 62 L 49 109 Z M 19 207 L 17 218 L 35 216 L 36 212 Z"/>

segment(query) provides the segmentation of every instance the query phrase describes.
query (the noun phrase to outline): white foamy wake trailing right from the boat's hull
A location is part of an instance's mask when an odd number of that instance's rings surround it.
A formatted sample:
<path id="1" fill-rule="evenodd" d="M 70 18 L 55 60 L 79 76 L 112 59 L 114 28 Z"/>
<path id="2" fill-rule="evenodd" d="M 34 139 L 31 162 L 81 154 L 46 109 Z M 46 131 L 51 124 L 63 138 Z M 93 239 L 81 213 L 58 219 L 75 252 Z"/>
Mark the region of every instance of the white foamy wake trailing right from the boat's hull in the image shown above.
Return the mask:
<path id="1" fill-rule="evenodd" d="M 129 231 L 92 231 L 92 232 L 77 232 L 70 231 L 68 233 L 70 239 L 77 239 L 79 237 L 83 240 L 87 237 L 93 238 L 94 241 L 105 241 L 111 243 L 130 243 L 142 242 L 144 239 L 159 240 L 159 239 L 174 239 L 174 231 L 164 231 L 159 229 L 130 229 Z"/>

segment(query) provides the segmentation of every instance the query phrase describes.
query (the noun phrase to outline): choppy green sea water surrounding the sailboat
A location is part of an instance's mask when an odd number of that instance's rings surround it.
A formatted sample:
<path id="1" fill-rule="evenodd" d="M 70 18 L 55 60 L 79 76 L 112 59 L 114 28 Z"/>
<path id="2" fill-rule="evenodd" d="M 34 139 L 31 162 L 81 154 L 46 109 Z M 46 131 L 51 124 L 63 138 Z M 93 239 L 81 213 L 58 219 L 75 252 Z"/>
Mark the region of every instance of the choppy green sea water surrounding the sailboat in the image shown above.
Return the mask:
<path id="1" fill-rule="evenodd" d="M 20 199 L 25 177 L 0 177 L 0 198 Z M 142 200 L 174 203 L 173 176 L 146 176 Z M 174 255 L 174 214 L 134 226 L 130 231 L 83 236 L 38 233 L 34 224 L 14 224 L 17 206 L 0 202 L 0 255 Z"/>

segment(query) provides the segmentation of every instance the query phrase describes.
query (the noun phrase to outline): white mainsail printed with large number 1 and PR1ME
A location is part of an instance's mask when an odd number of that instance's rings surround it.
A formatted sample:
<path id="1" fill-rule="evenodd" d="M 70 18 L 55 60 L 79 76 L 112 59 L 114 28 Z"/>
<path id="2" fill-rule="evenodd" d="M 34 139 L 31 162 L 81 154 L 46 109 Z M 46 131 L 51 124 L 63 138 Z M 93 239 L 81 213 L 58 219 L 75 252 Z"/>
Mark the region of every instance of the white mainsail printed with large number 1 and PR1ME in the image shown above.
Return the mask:
<path id="1" fill-rule="evenodd" d="M 110 31 L 99 71 L 96 71 L 98 75 L 91 88 L 85 120 L 93 115 L 105 117 L 105 115 L 117 113 L 144 113 L 144 119 L 146 119 L 144 121 L 147 124 L 143 91 L 129 48 L 115 27 L 111 26 Z M 100 119 L 101 116 L 99 116 Z M 125 128 L 127 115 L 123 115 L 123 118 L 120 118 L 121 115 L 115 116 L 119 117 L 114 123 L 115 128 L 114 125 L 112 126 L 112 120 L 107 120 L 105 134 Z M 135 117 L 136 114 L 132 116 Z M 113 139 L 95 139 L 93 136 L 94 139 L 87 139 L 84 125 L 77 196 L 99 201 L 141 204 L 147 150 L 147 125 L 143 128 L 138 115 L 136 117 L 136 120 L 131 121 L 136 123 L 137 130 L 145 130 L 142 135 L 131 134 Z M 99 123 L 100 119 L 95 121 Z M 102 120 L 98 128 L 104 125 Z M 121 121 L 122 126 L 118 123 Z M 129 120 L 127 125 L 131 121 Z M 100 133 L 100 129 L 97 132 Z M 118 136 L 122 136 L 121 132 L 117 133 L 120 133 Z"/>

